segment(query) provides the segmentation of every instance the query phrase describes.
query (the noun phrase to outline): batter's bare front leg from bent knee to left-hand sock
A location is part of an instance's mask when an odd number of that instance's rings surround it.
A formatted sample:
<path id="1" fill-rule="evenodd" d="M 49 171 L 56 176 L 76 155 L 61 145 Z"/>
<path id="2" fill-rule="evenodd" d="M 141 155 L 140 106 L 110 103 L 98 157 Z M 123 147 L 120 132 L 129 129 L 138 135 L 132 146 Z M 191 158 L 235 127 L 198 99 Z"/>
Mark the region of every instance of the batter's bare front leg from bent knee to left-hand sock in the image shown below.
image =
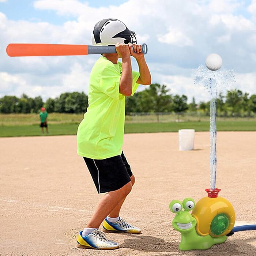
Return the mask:
<path id="1" fill-rule="evenodd" d="M 122 188 L 106 193 L 99 202 L 96 211 L 91 217 L 90 221 L 86 225 L 87 228 L 98 228 L 102 221 L 116 208 L 120 205 L 120 208 L 124 202 L 125 197 L 131 192 L 132 182 L 128 182 Z M 120 209 L 119 209 L 120 211 Z"/>

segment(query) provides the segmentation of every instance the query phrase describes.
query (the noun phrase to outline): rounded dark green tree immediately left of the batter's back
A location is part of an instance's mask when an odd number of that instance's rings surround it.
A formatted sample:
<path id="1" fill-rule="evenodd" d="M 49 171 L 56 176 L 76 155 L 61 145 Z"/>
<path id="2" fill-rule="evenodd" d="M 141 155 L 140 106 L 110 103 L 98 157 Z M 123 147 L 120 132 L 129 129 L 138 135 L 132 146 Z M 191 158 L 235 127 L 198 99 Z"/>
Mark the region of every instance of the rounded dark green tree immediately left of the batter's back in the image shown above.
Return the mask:
<path id="1" fill-rule="evenodd" d="M 82 113 L 88 107 L 88 96 L 84 93 L 70 93 L 65 99 L 65 112 Z"/>

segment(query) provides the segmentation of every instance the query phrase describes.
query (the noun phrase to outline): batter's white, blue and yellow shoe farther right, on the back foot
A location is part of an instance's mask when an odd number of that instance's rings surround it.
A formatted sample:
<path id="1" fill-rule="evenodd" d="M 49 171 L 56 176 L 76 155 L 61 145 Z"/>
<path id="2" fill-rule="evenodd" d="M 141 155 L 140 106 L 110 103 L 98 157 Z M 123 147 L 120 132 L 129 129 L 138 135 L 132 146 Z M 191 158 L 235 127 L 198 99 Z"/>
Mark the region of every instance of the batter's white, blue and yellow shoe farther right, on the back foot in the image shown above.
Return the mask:
<path id="1" fill-rule="evenodd" d="M 120 218 L 116 222 L 110 222 L 107 218 L 102 223 L 104 232 L 124 232 L 124 233 L 132 233 L 139 234 L 141 230 L 138 227 L 132 226 L 127 223 L 125 219 Z"/>

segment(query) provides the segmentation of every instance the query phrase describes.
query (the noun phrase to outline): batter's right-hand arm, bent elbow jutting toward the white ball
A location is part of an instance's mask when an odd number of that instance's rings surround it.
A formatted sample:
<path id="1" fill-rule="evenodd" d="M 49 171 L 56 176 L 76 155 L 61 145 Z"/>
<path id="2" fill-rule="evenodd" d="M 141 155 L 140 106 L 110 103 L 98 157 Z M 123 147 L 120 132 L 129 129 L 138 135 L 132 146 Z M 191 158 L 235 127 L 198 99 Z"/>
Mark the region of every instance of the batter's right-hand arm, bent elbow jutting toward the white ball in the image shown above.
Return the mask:
<path id="1" fill-rule="evenodd" d="M 135 52 L 132 51 L 132 48 L 131 48 L 132 46 Z M 136 45 L 136 44 L 132 45 L 129 43 L 129 48 L 130 48 L 131 55 L 135 57 L 139 66 L 140 77 L 138 78 L 136 83 L 143 84 L 143 85 L 151 84 L 150 71 L 148 69 L 144 54 L 141 52 L 142 46 Z"/>

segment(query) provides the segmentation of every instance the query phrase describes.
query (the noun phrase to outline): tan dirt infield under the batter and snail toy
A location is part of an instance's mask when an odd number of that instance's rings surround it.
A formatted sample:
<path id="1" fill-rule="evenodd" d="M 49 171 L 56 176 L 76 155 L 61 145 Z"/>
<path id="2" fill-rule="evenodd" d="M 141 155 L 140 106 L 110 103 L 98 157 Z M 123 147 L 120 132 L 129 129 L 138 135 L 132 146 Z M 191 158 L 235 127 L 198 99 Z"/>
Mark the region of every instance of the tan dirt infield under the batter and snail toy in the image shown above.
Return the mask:
<path id="1" fill-rule="evenodd" d="M 0 138 L 0 255 L 256 255 L 256 231 L 235 233 L 207 251 L 181 252 L 172 228 L 173 199 L 207 195 L 209 133 L 195 150 L 178 150 L 178 133 L 126 134 L 124 152 L 136 177 L 121 216 L 142 234 L 107 234 L 120 249 L 77 249 L 76 236 L 98 195 L 75 136 Z M 256 224 L 256 132 L 217 133 L 217 188 L 236 211 L 236 225 Z"/>

